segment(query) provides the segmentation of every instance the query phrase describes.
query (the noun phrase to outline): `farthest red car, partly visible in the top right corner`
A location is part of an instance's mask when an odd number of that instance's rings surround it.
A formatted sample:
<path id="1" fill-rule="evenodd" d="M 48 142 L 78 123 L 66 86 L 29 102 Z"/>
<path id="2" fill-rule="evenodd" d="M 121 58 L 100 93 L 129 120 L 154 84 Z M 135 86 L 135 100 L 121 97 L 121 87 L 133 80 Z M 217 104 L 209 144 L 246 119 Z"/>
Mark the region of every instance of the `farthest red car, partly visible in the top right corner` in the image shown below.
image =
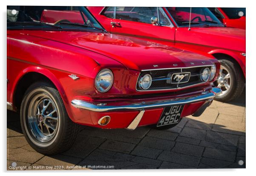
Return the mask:
<path id="1" fill-rule="evenodd" d="M 209 7 L 209 10 L 227 27 L 245 29 L 245 8 Z"/>

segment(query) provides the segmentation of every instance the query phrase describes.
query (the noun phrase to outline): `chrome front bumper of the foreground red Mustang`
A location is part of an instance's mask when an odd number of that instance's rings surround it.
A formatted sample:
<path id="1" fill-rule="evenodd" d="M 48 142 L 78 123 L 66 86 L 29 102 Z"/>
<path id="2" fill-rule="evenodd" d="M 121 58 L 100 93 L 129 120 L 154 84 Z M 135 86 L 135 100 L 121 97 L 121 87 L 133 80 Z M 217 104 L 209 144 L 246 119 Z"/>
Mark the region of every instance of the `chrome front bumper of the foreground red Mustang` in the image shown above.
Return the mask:
<path id="1" fill-rule="evenodd" d="M 193 102 L 200 102 L 207 99 L 212 99 L 215 95 L 221 93 L 221 89 L 219 88 L 212 88 L 210 91 L 204 92 L 199 96 L 192 96 L 187 98 L 180 98 L 180 99 L 170 99 L 164 101 L 157 101 L 157 102 L 141 102 L 135 104 L 128 104 L 122 106 L 98 106 L 91 102 L 85 102 L 83 100 L 74 99 L 71 101 L 72 106 L 91 110 L 94 112 L 110 112 L 110 111 L 122 111 L 122 110 L 143 110 L 143 109 L 150 109 L 150 108 L 157 108 L 157 107 L 168 107 L 171 105 L 177 104 L 188 104 Z"/>

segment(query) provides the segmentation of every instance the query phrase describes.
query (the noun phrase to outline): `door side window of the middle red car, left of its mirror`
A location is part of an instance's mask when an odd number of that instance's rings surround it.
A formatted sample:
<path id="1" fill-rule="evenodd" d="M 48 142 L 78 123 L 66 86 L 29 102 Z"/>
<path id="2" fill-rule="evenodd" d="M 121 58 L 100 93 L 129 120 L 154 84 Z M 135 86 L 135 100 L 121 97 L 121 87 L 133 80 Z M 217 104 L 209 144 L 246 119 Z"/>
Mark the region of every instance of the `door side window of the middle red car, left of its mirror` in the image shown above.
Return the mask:
<path id="1" fill-rule="evenodd" d="M 151 24 L 151 18 L 157 16 L 157 7 L 117 7 L 116 19 Z"/>

